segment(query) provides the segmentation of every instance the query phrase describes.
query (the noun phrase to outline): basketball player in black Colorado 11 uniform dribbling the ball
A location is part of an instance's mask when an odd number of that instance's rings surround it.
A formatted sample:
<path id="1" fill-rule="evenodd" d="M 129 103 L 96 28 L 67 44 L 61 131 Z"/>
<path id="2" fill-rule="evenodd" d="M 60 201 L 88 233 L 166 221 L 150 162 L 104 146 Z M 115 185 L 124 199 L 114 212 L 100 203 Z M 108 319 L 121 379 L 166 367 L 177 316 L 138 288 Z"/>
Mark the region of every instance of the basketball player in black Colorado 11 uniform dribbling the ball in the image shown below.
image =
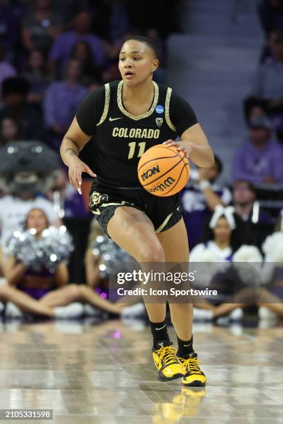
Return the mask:
<path id="1" fill-rule="evenodd" d="M 95 177 L 89 206 L 108 236 L 137 262 L 187 263 L 189 248 L 178 195 L 155 197 L 146 192 L 139 185 L 137 164 L 148 148 L 164 141 L 184 150 L 202 168 L 212 166 L 214 155 L 191 106 L 153 81 L 158 64 L 151 39 L 128 39 L 119 56 L 121 81 L 110 82 L 83 100 L 60 154 L 78 191 L 82 173 Z M 173 141 L 177 136 L 178 143 Z M 97 177 L 78 158 L 91 139 Z M 178 352 L 167 334 L 166 304 L 146 303 L 160 380 L 182 377 L 183 385 L 203 386 L 206 377 L 193 349 L 192 304 L 169 306 Z"/>

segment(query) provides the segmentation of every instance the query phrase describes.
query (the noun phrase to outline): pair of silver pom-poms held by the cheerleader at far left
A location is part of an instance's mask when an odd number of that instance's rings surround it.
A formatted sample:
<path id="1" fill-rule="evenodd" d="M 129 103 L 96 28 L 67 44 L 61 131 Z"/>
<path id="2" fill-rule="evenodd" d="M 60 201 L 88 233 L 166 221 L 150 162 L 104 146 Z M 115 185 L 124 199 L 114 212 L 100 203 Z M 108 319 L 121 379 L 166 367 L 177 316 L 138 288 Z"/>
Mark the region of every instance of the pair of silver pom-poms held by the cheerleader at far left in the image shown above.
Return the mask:
<path id="1" fill-rule="evenodd" d="M 74 245 L 65 226 L 44 229 L 38 239 L 35 234 L 35 229 L 14 231 L 8 240 L 9 254 L 35 271 L 39 271 L 44 265 L 53 272 L 58 263 L 69 259 Z"/>

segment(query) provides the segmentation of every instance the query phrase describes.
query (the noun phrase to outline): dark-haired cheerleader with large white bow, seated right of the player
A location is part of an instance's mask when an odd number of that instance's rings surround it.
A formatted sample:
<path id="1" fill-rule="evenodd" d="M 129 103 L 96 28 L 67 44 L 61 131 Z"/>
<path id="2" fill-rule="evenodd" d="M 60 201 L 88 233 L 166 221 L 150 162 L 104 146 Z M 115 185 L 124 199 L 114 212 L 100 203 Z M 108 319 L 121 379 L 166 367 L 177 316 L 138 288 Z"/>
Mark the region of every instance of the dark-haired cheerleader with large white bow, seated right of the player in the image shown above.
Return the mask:
<path id="1" fill-rule="evenodd" d="M 261 263 L 261 254 L 257 247 L 248 246 L 245 242 L 249 242 L 246 223 L 239 218 L 234 208 L 232 206 L 216 206 L 209 225 L 205 229 L 204 242 L 192 249 L 190 258 L 190 263 L 205 263 L 200 278 L 207 285 L 209 284 L 210 288 L 218 289 L 218 297 L 214 298 L 214 302 L 227 302 L 243 288 L 246 277 L 250 276 L 246 267 L 243 267 L 243 262 Z M 210 263 L 218 263 L 218 265 L 212 265 L 212 270 L 210 270 Z M 223 263 L 231 263 L 231 266 L 225 267 L 223 270 L 221 266 Z M 236 265 L 237 263 L 238 265 Z M 223 305 L 228 312 L 239 307 L 230 303 L 229 305 L 223 303 Z M 194 297 L 194 306 L 212 310 L 214 314 L 212 317 L 222 315 L 221 310 L 218 312 L 219 309 L 216 306 L 200 297 Z"/>

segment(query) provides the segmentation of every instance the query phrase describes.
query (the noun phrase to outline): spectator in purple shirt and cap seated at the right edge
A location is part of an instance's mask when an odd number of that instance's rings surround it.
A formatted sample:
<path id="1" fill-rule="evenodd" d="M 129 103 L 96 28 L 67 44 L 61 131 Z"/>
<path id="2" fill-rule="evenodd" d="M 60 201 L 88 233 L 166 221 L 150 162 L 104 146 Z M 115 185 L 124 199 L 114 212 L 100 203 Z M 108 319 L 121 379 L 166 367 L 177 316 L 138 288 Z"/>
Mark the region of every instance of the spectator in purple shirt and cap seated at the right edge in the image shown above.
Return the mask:
<path id="1" fill-rule="evenodd" d="M 234 155 L 232 177 L 253 184 L 283 183 L 283 150 L 271 140 L 271 125 L 264 116 L 250 121 L 250 140 Z"/>

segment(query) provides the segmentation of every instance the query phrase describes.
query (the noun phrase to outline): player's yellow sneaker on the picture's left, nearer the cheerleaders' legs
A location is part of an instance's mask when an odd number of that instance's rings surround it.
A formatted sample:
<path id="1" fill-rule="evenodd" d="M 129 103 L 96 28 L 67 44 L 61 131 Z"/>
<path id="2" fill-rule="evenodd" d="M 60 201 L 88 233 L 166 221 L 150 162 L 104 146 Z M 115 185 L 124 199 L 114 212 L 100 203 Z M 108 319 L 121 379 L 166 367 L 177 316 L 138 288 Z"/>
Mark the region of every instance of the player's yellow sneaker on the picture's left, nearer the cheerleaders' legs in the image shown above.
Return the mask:
<path id="1" fill-rule="evenodd" d="M 175 380 L 185 375 L 185 367 L 176 356 L 177 349 L 169 340 L 161 340 L 153 348 L 153 361 L 161 381 Z"/>

